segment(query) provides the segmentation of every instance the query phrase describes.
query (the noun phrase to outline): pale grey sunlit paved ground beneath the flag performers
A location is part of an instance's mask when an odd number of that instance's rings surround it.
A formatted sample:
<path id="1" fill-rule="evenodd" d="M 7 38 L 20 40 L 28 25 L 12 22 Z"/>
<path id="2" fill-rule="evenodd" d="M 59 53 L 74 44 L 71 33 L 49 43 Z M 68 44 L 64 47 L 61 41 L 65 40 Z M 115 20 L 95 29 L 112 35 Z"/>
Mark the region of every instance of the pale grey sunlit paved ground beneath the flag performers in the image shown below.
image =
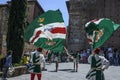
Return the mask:
<path id="1" fill-rule="evenodd" d="M 42 72 L 42 80 L 86 80 L 85 75 L 89 67 L 89 64 L 79 64 L 79 71 L 74 72 L 73 63 L 60 63 L 59 71 L 55 72 L 55 64 L 47 64 L 47 71 Z M 120 66 L 110 66 L 104 73 L 106 80 L 120 80 Z M 8 78 L 8 80 L 30 80 L 30 74 Z"/>

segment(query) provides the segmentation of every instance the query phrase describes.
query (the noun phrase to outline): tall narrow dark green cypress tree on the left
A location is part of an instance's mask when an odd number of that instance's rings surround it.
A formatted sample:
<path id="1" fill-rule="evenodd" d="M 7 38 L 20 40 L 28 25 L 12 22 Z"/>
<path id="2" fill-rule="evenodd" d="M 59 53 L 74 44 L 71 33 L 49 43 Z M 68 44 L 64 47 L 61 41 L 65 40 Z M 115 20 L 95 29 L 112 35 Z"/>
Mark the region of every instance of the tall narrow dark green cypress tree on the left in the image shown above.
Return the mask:
<path id="1" fill-rule="evenodd" d="M 7 51 L 13 50 L 13 63 L 19 63 L 24 49 L 27 0 L 11 0 L 8 19 Z"/>

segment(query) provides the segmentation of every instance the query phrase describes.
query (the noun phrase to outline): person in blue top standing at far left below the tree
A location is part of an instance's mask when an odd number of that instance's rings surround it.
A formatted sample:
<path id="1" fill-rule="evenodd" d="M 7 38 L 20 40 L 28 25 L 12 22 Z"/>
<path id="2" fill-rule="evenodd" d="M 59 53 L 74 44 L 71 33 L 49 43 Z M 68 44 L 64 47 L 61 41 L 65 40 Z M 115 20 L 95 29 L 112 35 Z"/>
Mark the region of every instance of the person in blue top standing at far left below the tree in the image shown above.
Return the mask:
<path id="1" fill-rule="evenodd" d="M 7 56 L 6 56 L 6 61 L 4 64 L 4 70 L 3 70 L 3 76 L 2 76 L 2 80 L 7 80 L 7 73 L 8 73 L 8 69 L 9 67 L 12 65 L 12 50 L 9 50 L 7 52 Z"/>

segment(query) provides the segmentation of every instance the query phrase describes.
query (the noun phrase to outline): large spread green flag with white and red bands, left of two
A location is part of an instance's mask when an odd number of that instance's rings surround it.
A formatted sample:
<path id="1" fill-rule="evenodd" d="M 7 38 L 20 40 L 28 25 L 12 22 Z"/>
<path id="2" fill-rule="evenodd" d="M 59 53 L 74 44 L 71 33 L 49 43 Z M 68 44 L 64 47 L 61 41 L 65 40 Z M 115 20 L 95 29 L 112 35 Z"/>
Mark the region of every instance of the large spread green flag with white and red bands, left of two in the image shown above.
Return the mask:
<path id="1" fill-rule="evenodd" d="M 53 51 L 64 50 L 66 27 L 59 10 L 38 16 L 25 30 L 25 41 Z"/>

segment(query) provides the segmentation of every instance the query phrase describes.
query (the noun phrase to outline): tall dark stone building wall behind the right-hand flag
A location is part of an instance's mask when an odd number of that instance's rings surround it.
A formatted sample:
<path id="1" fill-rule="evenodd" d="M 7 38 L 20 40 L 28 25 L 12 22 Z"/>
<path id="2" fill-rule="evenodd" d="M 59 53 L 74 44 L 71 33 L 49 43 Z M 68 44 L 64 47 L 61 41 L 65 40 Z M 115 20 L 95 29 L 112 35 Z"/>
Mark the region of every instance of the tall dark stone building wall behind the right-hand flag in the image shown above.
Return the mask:
<path id="1" fill-rule="evenodd" d="M 120 23 L 120 0 L 70 0 L 67 2 L 69 26 L 67 45 L 69 50 L 88 48 L 84 25 L 92 19 L 110 18 Z M 120 29 L 103 47 L 120 48 Z"/>

